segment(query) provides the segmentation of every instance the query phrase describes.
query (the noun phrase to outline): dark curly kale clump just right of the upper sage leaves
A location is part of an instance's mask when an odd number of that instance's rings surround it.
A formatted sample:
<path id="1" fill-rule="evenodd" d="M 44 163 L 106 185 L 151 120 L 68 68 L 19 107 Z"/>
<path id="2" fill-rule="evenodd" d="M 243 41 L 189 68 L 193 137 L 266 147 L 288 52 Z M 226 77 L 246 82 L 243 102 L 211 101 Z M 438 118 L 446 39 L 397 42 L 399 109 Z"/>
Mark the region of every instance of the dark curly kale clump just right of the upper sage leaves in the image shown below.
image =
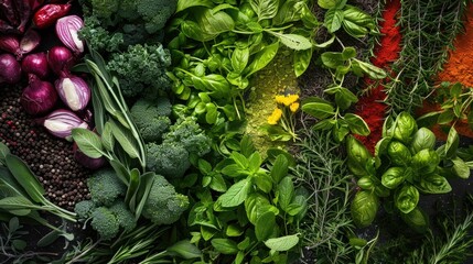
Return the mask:
<path id="1" fill-rule="evenodd" d="M 119 79 L 125 97 L 140 94 L 157 97 L 171 85 L 165 74 L 170 65 L 170 52 L 161 44 L 137 44 L 129 46 L 126 53 L 115 53 L 107 68 Z"/>

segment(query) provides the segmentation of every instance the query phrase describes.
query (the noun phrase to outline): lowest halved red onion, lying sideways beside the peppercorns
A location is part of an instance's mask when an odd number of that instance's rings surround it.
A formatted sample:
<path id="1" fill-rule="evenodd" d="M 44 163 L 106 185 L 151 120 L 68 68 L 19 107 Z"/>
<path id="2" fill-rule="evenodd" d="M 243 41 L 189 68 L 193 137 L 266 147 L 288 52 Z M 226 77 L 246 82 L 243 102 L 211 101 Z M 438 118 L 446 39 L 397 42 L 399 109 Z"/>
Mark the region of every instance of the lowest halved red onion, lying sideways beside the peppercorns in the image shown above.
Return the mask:
<path id="1" fill-rule="evenodd" d="M 88 129 L 88 124 L 69 110 L 58 109 L 42 120 L 44 128 L 53 135 L 72 141 L 72 130 Z"/>

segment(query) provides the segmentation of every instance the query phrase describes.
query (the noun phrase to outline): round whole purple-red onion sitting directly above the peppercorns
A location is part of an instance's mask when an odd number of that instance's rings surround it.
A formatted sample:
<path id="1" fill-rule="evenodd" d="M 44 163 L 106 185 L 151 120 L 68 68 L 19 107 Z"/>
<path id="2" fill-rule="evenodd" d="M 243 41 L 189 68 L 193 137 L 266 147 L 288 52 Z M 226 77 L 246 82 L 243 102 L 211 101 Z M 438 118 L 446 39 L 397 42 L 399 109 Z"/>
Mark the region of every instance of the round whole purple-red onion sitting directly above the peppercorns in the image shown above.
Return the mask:
<path id="1" fill-rule="evenodd" d="M 56 105 L 57 94 L 54 86 L 34 75 L 29 75 L 30 85 L 24 88 L 20 102 L 25 112 L 32 116 L 46 113 Z"/>

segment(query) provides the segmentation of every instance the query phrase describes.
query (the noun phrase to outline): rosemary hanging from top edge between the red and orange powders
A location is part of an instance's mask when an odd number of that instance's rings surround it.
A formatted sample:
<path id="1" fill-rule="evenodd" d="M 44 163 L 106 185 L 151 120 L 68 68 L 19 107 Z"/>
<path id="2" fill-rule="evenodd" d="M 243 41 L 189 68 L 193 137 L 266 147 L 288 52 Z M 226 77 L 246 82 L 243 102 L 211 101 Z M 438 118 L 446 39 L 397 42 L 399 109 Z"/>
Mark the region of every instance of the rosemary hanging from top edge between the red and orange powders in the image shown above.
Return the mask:
<path id="1" fill-rule="evenodd" d="M 386 85 L 390 113 L 421 106 L 442 69 L 453 40 L 463 30 L 467 0 L 401 0 L 399 25 L 402 50 L 393 69 L 398 75 Z"/>

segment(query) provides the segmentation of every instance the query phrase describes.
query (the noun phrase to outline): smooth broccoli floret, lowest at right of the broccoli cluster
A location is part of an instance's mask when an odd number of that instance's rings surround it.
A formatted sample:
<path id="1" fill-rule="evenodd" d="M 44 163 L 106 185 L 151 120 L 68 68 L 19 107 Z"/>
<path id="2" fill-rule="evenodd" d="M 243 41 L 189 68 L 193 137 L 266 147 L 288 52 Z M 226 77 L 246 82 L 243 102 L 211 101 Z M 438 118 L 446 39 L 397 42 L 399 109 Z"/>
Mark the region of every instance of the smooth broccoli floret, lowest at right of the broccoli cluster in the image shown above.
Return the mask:
<path id="1" fill-rule="evenodd" d="M 163 176 L 155 175 L 142 216 L 157 224 L 170 224 L 187 209 L 189 199 L 178 194 Z"/>

